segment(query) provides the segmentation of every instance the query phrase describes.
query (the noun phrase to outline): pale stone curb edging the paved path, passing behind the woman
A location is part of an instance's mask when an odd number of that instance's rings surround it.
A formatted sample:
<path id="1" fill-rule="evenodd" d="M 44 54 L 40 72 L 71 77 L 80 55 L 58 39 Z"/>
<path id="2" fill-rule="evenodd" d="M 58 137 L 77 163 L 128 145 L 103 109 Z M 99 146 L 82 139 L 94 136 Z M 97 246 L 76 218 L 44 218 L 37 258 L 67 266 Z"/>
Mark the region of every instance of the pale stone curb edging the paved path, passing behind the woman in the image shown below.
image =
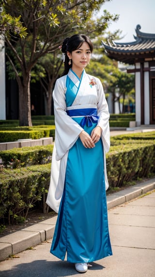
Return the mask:
<path id="1" fill-rule="evenodd" d="M 107 196 L 108 209 L 155 189 L 155 178 Z M 0 238 L 0 261 L 53 237 L 57 216 Z"/>

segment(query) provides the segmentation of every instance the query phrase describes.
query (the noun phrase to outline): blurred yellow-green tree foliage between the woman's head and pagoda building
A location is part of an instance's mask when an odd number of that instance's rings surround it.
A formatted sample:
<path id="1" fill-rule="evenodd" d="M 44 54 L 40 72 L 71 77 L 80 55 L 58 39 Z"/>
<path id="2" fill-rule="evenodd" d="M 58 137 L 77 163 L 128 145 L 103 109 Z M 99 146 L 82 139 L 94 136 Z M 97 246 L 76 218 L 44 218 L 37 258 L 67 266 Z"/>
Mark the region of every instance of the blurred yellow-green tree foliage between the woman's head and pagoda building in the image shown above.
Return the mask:
<path id="1" fill-rule="evenodd" d="M 124 113 L 124 104 L 127 102 L 127 98 L 128 102 L 131 102 L 133 98 L 135 77 L 133 74 L 121 71 L 118 68 L 118 62 L 110 59 L 101 47 L 101 40 L 120 39 L 120 35 L 120 30 L 117 30 L 113 34 L 108 33 L 107 38 L 100 37 L 94 40 L 95 50 L 87 71 L 100 78 L 107 97 L 109 93 L 112 93 L 113 111 L 115 102 L 118 102 L 120 113 Z M 122 110 L 121 104 L 123 105 Z"/>

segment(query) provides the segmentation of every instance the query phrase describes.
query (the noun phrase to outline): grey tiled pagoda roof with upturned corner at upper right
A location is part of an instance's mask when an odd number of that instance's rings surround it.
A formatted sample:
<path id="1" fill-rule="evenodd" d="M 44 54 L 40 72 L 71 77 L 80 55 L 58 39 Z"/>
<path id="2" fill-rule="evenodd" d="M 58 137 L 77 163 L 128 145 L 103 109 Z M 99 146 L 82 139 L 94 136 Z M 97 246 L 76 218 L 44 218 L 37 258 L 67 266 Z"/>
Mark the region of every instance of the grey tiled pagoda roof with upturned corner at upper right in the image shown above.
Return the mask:
<path id="1" fill-rule="evenodd" d="M 155 57 L 155 34 L 140 32 L 141 26 L 136 27 L 135 41 L 133 42 L 114 42 L 108 41 L 108 45 L 102 41 L 105 52 L 110 58 L 128 64 L 134 64 L 139 58 Z"/>

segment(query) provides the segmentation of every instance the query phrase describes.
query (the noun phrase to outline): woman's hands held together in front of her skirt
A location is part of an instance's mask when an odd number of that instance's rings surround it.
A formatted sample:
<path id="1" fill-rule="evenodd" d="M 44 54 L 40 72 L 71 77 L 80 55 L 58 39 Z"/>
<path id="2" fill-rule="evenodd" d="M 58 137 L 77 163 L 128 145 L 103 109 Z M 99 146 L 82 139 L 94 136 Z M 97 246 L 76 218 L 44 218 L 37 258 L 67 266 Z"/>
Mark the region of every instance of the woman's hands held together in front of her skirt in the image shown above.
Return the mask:
<path id="1" fill-rule="evenodd" d="M 101 138 L 101 127 L 96 126 L 93 129 L 91 136 L 83 130 L 79 134 L 79 138 L 81 139 L 81 142 L 85 148 L 93 148 L 95 147 L 95 143 L 98 142 Z"/>

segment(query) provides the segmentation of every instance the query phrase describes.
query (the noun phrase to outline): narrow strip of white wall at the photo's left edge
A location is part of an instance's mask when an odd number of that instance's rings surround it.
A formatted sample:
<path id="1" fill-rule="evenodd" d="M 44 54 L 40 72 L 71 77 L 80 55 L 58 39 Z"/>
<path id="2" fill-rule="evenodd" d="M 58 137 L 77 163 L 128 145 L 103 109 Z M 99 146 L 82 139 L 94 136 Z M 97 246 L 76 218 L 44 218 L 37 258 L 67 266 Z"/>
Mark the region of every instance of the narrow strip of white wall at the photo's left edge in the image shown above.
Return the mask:
<path id="1" fill-rule="evenodd" d="M 3 39 L 0 38 L 0 120 L 6 119 L 5 104 L 5 50 Z"/>

